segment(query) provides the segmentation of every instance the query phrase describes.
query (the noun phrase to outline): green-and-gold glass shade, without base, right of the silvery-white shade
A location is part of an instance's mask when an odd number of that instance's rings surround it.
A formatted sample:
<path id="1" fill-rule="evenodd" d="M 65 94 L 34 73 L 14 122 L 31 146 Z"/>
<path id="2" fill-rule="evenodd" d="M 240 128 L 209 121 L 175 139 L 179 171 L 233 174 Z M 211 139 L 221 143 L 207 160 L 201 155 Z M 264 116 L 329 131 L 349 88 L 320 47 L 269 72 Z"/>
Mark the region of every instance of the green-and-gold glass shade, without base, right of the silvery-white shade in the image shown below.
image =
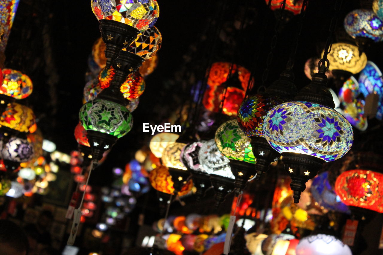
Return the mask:
<path id="1" fill-rule="evenodd" d="M 255 163 L 250 138 L 239 128 L 236 119 L 223 123 L 215 134 L 219 151 L 228 159 Z"/>

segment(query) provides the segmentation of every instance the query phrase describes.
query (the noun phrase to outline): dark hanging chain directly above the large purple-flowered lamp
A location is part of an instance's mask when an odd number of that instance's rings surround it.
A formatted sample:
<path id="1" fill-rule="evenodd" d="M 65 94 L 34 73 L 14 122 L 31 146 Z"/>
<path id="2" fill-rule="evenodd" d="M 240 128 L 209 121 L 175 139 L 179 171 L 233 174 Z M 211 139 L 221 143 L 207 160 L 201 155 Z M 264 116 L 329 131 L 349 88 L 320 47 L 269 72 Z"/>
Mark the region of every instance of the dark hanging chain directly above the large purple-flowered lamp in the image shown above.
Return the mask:
<path id="1" fill-rule="evenodd" d="M 339 12 L 340 12 L 340 9 L 342 8 L 342 3 L 343 3 L 343 0 L 337 0 L 335 2 L 334 15 L 332 15 L 330 28 L 329 28 L 329 36 L 327 37 L 323 57 L 321 60 L 319 60 L 319 63 L 318 63 L 319 73 L 322 73 L 322 74 L 326 73 L 326 71 L 329 70 L 330 68 L 330 61 L 327 59 L 327 55 L 331 52 L 332 40 L 333 40 L 332 38 L 334 36 L 334 31 L 339 20 Z"/>

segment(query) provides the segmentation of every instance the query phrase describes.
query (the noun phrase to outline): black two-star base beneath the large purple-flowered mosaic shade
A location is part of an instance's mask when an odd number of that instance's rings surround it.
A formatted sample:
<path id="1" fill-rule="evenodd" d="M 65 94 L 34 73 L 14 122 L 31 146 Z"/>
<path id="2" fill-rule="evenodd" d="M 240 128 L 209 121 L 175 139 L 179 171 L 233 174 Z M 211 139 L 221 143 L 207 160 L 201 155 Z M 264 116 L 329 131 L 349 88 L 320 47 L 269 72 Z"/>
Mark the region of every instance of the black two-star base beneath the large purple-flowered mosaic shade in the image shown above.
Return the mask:
<path id="1" fill-rule="evenodd" d="M 311 155 L 282 152 L 282 162 L 291 178 L 290 187 L 294 191 L 294 203 L 298 204 L 301 192 L 306 189 L 306 182 L 318 174 L 325 161 Z"/>

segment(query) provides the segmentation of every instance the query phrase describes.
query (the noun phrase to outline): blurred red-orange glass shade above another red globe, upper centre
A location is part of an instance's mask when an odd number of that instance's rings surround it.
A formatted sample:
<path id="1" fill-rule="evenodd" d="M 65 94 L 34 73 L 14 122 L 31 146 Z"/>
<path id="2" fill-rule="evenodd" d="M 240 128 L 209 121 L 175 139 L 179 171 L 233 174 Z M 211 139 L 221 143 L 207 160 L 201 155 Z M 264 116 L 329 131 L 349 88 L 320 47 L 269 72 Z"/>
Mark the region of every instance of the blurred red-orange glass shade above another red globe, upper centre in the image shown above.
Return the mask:
<path id="1" fill-rule="evenodd" d="M 238 79 L 241 82 L 241 87 L 243 90 L 246 90 L 247 84 L 250 80 L 250 72 L 240 65 L 232 64 L 229 62 L 216 62 L 211 65 L 209 76 L 208 76 L 208 85 L 210 87 L 216 87 L 228 80 L 229 74 L 233 75 L 238 73 Z"/>

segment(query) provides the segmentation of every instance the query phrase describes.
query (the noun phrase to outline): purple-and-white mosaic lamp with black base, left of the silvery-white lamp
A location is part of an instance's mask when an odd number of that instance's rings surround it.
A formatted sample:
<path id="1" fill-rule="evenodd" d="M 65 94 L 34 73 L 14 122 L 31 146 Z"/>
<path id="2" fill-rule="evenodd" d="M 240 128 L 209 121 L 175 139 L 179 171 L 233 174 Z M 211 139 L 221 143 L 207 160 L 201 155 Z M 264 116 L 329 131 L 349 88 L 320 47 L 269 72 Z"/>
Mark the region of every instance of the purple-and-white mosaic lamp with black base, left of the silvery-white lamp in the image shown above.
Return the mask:
<path id="1" fill-rule="evenodd" d="M 205 195 L 206 190 L 211 187 L 210 177 L 202 171 L 199 159 L 200 149 L 206 142 L 198 141 L 188 144 L 182 152 L 182 162 L 191 172 L 191 179 L 197 189 L 195 193 L 197 201 L 200 201 L 201 197 Z"/>

